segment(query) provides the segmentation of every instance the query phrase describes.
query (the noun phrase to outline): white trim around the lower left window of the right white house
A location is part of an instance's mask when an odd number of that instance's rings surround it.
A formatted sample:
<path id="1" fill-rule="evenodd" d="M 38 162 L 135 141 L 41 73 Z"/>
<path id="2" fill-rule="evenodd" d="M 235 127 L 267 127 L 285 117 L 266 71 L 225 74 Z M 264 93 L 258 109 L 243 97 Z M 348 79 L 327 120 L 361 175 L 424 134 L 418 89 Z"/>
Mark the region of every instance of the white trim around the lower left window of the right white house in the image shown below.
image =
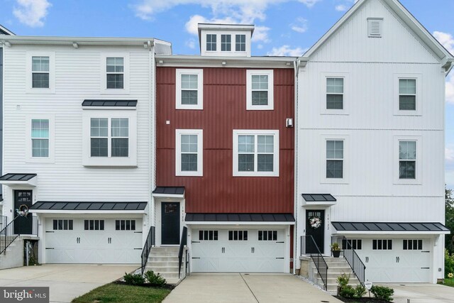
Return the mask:
<path id="1" fill-rule="evenodd" d="M 348 135 L 322 135 L 321 138 L 321 178 L 322 184 L 348 184 L 350 180 L 350 142 Z M 326 177 L 326 141 L 343 141 L 343 178 Z"/>

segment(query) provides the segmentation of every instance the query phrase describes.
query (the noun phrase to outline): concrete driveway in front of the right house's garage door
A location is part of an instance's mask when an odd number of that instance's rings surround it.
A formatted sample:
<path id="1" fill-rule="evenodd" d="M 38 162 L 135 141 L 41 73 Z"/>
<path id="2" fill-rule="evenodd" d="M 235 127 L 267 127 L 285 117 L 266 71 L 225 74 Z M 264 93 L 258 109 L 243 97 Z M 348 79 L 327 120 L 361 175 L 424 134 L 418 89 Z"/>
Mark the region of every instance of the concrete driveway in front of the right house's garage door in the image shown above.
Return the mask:
<path id="1" fill-rule="evenodd" d="M 428 283 L 380 283 L 394 289 L 394 303 L 453 303 L 454 287 Z"/>

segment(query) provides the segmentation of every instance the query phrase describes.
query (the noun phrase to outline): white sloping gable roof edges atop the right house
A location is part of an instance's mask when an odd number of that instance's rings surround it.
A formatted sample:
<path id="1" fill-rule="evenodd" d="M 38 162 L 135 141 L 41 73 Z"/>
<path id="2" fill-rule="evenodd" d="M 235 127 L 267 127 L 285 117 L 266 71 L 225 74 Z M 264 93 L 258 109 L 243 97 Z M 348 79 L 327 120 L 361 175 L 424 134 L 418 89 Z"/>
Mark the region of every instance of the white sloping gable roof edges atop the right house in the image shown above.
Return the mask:
<path id="1" fill-rule="evenodd" d="M 356 2 L 356 4 L 353 5 L 314 45 L 312 45 L 312 47 L 309 48 L 309 50 L 307 50 L 301 58 L 307 60 L 311 57 L 311 55 L 314 54 L 316 50 L 318 50 L 321 45 L 323 45 L 323 43 L 331 37 L 331 35 L 336 33 L 338 28 L 341 28 L 348 18 L 353 16 L 353 14 L 367 1 L 371 0 L 359 0 Z M 451 62 L 454 62 L 454 56 L 451 55 L 448 50 L 446 50 L 443 45 L 441 45 L 441 43 L 439 43 L 438 40 L 436 40 L 436 38 L 434 38 L 433 35 L 426 30 L 426 28 L 424 28 L 422 24 L 419 23 L 419 21 L 416 20 L 416 18 L 414 18 L 414 16 L 398 0 L 380 1 L 387 4 L 389 8 L 391 8 L 394 13 L 396 13 L 397 16 L 399 16 L 399 18 L 401 18 L 402 21 L 404 21 L 404 23 L 406 23 L 406 25 L 409 26 L 414 33 L 416 33 L 423 43 L 425 43 L 428 48 L 430 48 L 433 53 L 438 56 L 438 59 L 442 62 L 443 67 L 446 69 L 450 67 Z"/>

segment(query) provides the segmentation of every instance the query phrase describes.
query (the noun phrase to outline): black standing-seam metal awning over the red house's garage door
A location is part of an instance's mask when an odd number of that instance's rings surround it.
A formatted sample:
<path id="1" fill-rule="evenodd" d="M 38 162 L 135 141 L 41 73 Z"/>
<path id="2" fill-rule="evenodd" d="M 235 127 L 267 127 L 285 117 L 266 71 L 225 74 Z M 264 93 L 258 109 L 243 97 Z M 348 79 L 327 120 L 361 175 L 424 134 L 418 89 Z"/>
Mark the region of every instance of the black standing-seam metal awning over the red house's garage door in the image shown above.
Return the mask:
<path id="1" fill-rule="evenodd" d="M 186 214 L 187 222 L 294 222 L 292 214 Z"/>

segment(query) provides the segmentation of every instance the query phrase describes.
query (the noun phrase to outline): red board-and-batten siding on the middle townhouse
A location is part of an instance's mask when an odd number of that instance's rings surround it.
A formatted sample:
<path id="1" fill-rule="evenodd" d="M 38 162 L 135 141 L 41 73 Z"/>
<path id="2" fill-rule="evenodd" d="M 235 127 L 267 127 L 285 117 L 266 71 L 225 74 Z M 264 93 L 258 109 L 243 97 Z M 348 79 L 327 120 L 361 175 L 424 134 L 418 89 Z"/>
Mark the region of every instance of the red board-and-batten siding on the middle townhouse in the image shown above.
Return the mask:
<path id="1" fill-rule="evenodd" d="M 175 109 L 175 67 L 157 67 L 157 186 L 184 186 L 187 213 L 294 210 L 294 70 L 274 70 L 274 111 L 246 111 L 246 69 L 204 68 L 204 109 Z M 166 124 L 170 121 L 170 125 Z M 203 177 L 175 176 L 175 129 L 203 129 Z M 233 177 L 233 130 L 279 130 L 279 177 Z"/>

